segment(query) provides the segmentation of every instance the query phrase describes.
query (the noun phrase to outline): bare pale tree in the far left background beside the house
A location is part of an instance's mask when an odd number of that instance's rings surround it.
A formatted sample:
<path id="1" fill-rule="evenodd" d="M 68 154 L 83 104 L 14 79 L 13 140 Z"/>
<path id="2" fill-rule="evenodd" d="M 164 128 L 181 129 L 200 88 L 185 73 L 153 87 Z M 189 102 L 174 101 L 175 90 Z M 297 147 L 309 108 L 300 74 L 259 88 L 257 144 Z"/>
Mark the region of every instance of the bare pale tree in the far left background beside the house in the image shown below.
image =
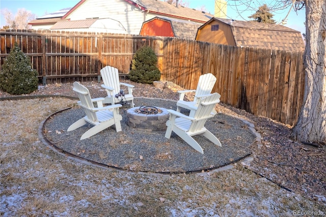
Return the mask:
<path id="1" fill-rule="evenodd" d="M 7 25 L 14 29 L 29 29 L 28 22 L 36 18 L 35 14 L 24 8 L 18 9 L 15 16 L 8 9 L 4 9 L 1 13 L 4 15 Z"/>

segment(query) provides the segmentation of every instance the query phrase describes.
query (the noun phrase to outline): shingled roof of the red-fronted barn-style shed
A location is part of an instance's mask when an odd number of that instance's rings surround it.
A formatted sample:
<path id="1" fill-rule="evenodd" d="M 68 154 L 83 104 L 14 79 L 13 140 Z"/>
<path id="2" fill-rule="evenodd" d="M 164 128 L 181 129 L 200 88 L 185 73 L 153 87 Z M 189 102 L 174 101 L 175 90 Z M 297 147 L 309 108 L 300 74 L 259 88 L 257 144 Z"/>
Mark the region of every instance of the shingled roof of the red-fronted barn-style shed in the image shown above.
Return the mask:
<path id="1" fill-rule="evenodd" d="M 143 23 L 143 26 L 144 26 L 144 24 L 149 23 L 155 19 L 169 22 L 171 24 L 171 27 L 172 27 L 172 30 L 174 33 L 174 37 L 177 37 L 177 38 L 194 40 L 195 36 L 197 34 L 197 29 L 201 26 L 201 24 L 195 23 L 193 21 L 171 19 L 171 18 L 167 18 L 167 17 L 154 17 L 152 19 L 145 21 Z"/>

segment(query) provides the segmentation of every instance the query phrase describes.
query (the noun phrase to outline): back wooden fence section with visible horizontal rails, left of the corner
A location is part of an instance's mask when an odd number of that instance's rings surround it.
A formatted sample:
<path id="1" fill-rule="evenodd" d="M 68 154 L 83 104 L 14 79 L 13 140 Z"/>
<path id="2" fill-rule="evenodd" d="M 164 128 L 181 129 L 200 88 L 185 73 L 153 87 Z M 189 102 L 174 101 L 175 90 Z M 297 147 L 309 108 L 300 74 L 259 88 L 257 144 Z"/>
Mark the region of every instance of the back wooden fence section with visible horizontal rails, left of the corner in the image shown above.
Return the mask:
<path id="1" fill-rule="evenodd" d="M 162 61 L 162 38 L 15 29 L 2 30 L 0 37 L 1 64 L 18 42 L 44 84 L 98 80 L 106 65 L 128 73 L 133 54 L 144 45 L 153 47 Z"/>

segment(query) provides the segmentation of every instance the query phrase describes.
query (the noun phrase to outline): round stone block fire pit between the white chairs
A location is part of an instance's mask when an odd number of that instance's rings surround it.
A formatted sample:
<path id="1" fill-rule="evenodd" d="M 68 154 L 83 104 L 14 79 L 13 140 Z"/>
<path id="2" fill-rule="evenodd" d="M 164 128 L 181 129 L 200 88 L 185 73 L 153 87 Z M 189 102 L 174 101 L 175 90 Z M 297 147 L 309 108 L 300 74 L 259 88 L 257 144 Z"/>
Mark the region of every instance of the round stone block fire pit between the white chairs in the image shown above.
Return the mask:
<path id="1" fill-rule="evenodd" d="M 165 108 L 140 106 L 127 110 L 128 126 L 146 132 L 166 130 L 169 112 Z"/>

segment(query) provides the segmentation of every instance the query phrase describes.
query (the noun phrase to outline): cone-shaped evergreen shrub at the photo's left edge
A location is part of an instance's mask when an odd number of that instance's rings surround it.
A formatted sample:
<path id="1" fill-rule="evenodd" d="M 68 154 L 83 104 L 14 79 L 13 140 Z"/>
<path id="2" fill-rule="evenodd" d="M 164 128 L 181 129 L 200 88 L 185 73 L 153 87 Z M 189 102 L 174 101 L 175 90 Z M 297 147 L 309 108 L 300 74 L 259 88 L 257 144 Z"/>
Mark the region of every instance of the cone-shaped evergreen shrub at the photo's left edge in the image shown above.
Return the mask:
<path id="1" fill-rule="evenodd" d="M 38 87 L 38 73 L 15 43 L 0 71 L 0 89 L 13 95 L 30 94 Z"/>

